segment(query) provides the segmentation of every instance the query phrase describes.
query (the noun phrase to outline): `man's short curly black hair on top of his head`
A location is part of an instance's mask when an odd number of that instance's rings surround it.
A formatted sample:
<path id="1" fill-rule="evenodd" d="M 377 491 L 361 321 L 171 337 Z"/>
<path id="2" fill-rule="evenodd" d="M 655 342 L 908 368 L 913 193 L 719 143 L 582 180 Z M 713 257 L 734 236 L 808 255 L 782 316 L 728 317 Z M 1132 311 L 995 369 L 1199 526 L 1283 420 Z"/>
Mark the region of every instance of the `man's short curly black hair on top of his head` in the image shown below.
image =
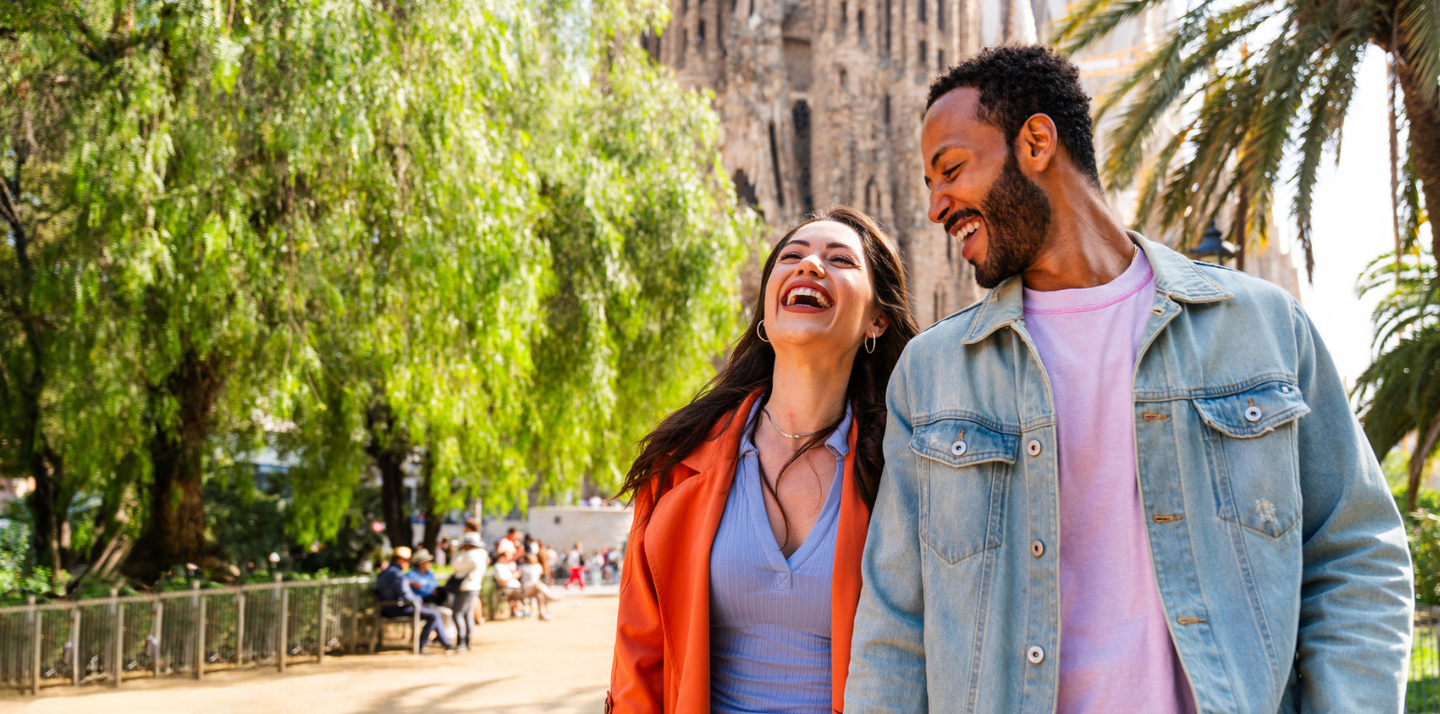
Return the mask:
<path id="1" fill-rule="evenodd" d="M 1050 117 L 1070 160 L 1096 187 L 1100 186 L 1090 98 L 1080 86 L 1080 69 L 1066 56 L 1044 45 L 985 48 L 930 82 L 924 109 L 930 111 L 940 96 L 965 86 L 981 92 L 976 118 L 998 128 L 1007 143 L 1014 144 L 1031 117 Z"/>

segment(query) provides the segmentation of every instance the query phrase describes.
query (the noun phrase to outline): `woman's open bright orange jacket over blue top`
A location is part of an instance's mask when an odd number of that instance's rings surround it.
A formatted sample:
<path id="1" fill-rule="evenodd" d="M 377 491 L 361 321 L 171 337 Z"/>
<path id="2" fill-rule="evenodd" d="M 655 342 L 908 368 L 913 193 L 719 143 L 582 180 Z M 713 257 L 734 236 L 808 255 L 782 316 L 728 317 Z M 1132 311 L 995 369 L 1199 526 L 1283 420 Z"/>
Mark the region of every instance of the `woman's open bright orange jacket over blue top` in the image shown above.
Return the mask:
<path id="1" fill-rule="evenodd" d="M 606 713 L 706 714 L 710 711 L 710 547 L 734 481 L 736 452 L 752 394 L 710 438 L 671 471 L 671 489 L 631 525 L 621 576 L 615 664 Z M 727 426 L 724 426 L 729 422 Z M 860 602 L 860 554 L 870 510 L 855 487 L 855 433 L 850 429 L 831 583 L 831 704 L 842 711 L 850 636 Z M 635 498 L 644 512 L 652 494 Z"/>

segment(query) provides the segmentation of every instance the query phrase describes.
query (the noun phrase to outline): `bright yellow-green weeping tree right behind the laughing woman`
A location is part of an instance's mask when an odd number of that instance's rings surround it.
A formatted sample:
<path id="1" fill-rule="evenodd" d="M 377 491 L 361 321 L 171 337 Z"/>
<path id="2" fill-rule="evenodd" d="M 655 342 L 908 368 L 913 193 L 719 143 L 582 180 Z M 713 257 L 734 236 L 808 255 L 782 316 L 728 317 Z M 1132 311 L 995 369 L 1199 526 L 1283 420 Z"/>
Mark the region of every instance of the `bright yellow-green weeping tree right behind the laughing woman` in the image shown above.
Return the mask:
<path id="1" fill-rule="evenodd" d="M 287 439 L 301 537 L 333 534 L 361 464 L 395 544 L 433 547 L 471 498 L 504 512 L 613 484 L 710 376 L 757 235 L 717 170 L 708 99 L 624 40 L 661 6 L 426 9 L 384 20 L 405 102 L 374 115 L 363 240 L 311 305 Z"/>

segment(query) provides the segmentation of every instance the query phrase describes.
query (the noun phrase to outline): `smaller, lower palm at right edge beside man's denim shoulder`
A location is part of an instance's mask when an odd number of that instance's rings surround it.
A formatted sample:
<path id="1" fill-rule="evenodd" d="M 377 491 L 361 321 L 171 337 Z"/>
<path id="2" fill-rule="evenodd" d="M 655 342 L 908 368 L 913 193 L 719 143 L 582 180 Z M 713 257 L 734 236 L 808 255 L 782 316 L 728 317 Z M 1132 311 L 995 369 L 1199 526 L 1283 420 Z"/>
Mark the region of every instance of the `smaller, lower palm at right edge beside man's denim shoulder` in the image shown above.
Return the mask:
<path id="1" fill-rule="evenodd" d="M 1355 383 L 1361 423 L 1375 453 L 1388 453 L 1416 433 L 1410 453 L 1405 510 L 1417 505 L 1426 462 L 1440 442 L 1440 279 L 1420 252 L 1394 261 L 1385 255 L 1367 268 L 1361 295 L 1390 292 L 1375 307 L 1375 361 Z"/>

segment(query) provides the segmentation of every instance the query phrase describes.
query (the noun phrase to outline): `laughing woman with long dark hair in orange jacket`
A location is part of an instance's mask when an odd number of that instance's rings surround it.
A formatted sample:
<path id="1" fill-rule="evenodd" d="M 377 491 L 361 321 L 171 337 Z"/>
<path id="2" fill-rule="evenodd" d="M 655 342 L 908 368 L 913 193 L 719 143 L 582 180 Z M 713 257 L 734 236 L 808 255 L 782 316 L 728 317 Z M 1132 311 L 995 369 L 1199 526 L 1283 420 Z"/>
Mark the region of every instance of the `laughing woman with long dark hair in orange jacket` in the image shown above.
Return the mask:
<path id="1" fill-rule="evenodd" d="M 854 209 L 770 252 L 750 330 L 645 438 L 608 711 L 840 711 L 904 268 Z"/>

